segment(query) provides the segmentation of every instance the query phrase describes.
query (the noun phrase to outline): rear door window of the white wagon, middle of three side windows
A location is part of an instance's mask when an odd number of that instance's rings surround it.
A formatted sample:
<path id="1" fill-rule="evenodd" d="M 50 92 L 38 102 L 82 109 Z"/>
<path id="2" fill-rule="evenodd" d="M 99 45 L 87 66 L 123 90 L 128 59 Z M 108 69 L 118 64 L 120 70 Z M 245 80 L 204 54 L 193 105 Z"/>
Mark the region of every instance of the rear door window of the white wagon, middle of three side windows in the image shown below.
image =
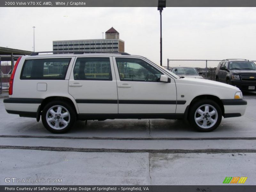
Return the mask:
<path id="1" fill-rule="evenodd" d="M 77 58 L 73 72 L 75 80 L 112 81 L 109 58 Z"/>

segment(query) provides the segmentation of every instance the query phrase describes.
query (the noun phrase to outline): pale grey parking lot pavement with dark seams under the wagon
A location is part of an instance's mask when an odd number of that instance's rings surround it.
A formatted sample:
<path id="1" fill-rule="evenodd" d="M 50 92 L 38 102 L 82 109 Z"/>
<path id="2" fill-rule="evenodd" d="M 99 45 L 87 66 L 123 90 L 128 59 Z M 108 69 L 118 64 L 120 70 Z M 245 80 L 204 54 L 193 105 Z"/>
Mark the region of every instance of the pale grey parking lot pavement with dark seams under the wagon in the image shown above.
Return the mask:
<path id="1" fill-rule="evenodd" d="M 181 120 L 142 119 L 78 121 L 56 135 L 41 121 L 7 114 L 0 99 L 0 185 L 222 185 L 226 177 L 255 185 L 255 95 L 244 94 L 244 116 L 223 118 L 209 133 Z"/>

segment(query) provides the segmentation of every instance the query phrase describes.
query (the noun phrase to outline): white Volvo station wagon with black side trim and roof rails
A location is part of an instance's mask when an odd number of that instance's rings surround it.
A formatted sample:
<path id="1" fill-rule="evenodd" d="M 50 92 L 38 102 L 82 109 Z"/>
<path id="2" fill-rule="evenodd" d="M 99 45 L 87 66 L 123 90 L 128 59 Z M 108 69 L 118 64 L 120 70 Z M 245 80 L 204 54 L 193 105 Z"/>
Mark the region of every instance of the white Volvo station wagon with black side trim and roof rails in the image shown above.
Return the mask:
<path id="1" fill-rule="evenodd" d="M 32 53 L 20 57 L 10 79 L 8 113 L 42 118 L 53 133 L 76 120 L 188 119 L 198 131 L 244 115 L 247 102 L 231 85 L 180 77 L 128 53 Z"/>

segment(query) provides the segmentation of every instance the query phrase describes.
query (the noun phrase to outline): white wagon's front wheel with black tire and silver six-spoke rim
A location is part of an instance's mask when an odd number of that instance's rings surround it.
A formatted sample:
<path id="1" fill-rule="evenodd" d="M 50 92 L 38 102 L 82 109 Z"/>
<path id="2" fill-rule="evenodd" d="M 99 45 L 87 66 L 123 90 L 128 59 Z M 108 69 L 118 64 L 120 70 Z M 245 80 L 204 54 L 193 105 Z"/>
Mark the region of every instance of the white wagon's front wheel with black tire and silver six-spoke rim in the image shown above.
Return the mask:
<path id="1" fill-rule="evenodd" d="M 208 111 L 206 106 L 209 108 Z M 199 112 L 203 113 L 200 114 Z M 198 118 L 198 121 L 196 121 L 196 118 Z M 200 121 L 200 119 L 202 120 Z M 211 132 L 215 130 L 220 125 L 221 119 L 222 112 L 220 106 L 210 99 L 196 101 L 191 106 L 188 114 L 189 123 L 200 132 Z"/>

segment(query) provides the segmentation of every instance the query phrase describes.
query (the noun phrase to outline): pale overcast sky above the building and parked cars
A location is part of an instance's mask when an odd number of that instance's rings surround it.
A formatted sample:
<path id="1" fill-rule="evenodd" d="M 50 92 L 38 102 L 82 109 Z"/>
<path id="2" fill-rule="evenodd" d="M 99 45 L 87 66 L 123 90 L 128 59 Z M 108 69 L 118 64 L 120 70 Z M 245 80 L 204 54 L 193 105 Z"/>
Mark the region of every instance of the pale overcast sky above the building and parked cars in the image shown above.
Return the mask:
<path id="1" fill-rule="evenodd" d="M 125 52 L 160 64 L 160 14 L 152 7 L 3 8 L 0 46 L 52 51 L 52 41 L 101 39 L 112 26 Z M 169 59 L 256 60 L 256 8 L 182 7 L 162 12 L 163 65 Z"/>

